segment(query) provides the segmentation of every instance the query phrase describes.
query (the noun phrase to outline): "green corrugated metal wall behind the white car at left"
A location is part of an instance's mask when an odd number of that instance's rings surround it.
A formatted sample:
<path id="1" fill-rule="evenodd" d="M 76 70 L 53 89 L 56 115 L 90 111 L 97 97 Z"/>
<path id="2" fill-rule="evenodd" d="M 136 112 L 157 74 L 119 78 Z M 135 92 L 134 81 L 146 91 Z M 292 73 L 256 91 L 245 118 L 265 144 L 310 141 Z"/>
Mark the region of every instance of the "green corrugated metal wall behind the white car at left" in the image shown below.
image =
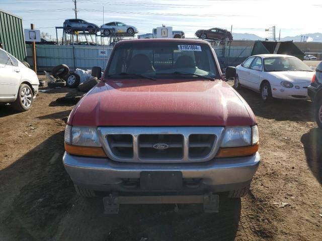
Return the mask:
<path id="1" fill-rule="evenodd" d="M 22 18 L 0 9 L 0 43 L 19 60 L 26 59 Z"/>

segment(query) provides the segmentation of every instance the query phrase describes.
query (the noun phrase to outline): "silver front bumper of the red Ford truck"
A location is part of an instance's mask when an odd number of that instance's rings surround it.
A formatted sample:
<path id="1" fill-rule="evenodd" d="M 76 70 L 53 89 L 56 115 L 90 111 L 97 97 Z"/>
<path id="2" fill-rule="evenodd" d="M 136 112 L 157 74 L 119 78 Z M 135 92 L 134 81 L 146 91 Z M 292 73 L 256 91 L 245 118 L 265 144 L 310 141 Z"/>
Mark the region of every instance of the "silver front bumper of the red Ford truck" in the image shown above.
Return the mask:
<path id="1" fill-rule="evenodd" d="M 72 156 L 66 152 L 63 156 L 64 167 L 75 184 L 97 191 L 121 193 L 142 192 L 139 186 L 126 185 L 127 180 L 139 183 L 142 171 L 180 171 L 184 181 L 199 180 L 199 185 L 186 185 L 178 192 L 227 192 L 247 186 L 259 163 L 259 153 L 247 157 L 214 158 L 208 162 L 184 164 L 121 163 L 108 158 Z"/>

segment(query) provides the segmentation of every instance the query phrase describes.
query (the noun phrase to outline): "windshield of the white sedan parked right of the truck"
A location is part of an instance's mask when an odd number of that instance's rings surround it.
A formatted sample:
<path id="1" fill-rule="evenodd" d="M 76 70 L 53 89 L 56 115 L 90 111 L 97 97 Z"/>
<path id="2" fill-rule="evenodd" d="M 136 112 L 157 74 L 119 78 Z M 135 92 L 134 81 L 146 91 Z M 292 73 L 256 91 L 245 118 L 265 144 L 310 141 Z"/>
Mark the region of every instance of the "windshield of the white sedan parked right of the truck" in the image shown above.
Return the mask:
<path id="1" fill-rule="evenodd" d="M 270 57 L 264 59 L 264 70 L 274 71 L 312 71 L 296 57 Z"/>

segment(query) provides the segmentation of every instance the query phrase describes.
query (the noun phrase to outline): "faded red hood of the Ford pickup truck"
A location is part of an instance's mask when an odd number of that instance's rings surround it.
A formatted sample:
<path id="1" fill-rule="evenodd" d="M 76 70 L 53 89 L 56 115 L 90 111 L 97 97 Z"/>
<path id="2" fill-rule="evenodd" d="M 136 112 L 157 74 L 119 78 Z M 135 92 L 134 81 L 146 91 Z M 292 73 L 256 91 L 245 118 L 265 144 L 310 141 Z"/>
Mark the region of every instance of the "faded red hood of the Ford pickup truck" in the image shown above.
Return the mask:
<path id="1" fill-rule="evenodd" d="M 72 110 L 75 126 L 251 126 L 255 116 L 222 80 L 101 81 Z"/>

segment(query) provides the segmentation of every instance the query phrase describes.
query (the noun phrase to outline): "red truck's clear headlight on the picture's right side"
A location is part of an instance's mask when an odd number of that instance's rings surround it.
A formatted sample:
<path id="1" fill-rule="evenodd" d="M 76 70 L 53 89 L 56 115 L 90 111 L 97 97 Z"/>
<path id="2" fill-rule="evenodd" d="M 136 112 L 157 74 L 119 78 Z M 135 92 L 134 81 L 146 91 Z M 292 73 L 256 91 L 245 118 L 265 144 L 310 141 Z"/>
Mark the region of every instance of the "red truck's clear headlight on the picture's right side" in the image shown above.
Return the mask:
<path id="1" fill-rule="evenodd" d="M 221 147 L 245 147 L 252 144 L 252 129 L 250 127 L 229 127 L 225 130 L 225 136 Z"/>

